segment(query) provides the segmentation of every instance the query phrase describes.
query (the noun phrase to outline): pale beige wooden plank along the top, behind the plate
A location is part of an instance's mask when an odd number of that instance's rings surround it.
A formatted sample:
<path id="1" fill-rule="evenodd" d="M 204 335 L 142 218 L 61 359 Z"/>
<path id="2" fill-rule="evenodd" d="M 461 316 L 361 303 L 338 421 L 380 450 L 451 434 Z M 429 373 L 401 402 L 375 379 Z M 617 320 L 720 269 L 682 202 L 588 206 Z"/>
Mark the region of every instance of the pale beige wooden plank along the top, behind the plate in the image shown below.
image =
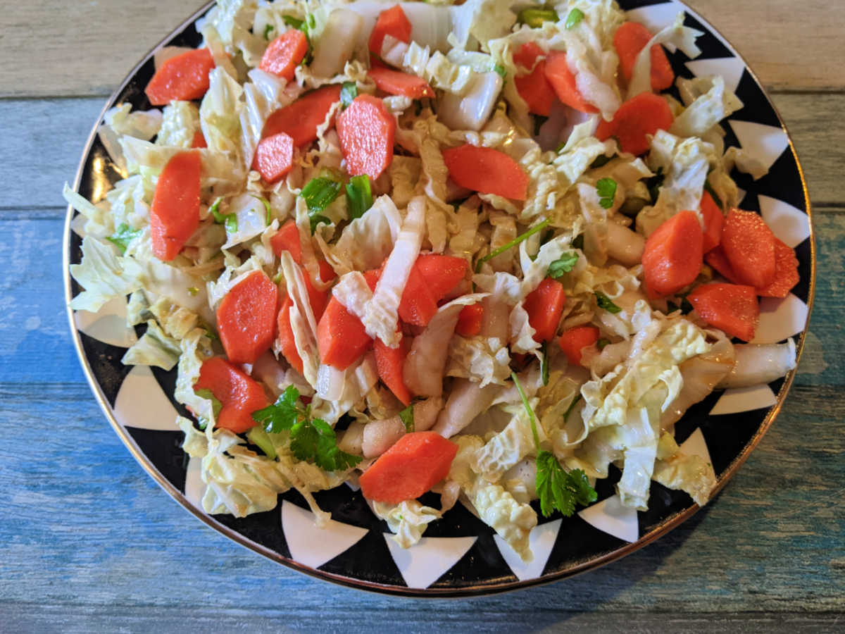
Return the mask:
<path id="1" fill-rule="evenodd" d="M 764 85 L 842 90 L 845 4 L 690 0 L 732 41 Z M 202 2 L 19 3 L 0 15 L 0 96 L 106 96 L 152 46 Z M 37 34 L 34 36 L 33 34 Z M 73 36 L 68 36 L 73 34 Z"/>

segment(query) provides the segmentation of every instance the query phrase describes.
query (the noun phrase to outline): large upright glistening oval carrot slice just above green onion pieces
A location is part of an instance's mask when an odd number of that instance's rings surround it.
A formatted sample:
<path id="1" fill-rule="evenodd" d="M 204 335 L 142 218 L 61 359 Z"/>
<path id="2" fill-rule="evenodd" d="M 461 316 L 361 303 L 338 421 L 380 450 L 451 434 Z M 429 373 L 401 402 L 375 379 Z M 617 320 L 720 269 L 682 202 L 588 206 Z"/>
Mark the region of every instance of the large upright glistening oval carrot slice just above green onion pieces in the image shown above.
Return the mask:
<path id="1" fill-rule="evenodd" d="M 337 118 L 337 134 L 352 176 L 367 174 L 375 180 L 393 161 L 396 118 L 378 97 L 355 97 Z"/>

